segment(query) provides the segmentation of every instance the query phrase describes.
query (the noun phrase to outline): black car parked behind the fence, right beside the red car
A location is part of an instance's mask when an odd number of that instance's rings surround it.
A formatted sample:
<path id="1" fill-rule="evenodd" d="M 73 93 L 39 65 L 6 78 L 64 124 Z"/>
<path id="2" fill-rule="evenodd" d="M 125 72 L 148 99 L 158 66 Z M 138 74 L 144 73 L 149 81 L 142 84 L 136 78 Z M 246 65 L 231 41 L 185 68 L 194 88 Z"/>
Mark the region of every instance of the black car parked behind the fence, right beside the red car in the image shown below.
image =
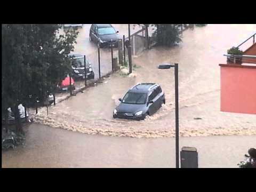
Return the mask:
<path id="1" fill-rule="evenodd" d="M 72 59 L 73 77 L 75 79 L 84 78 L 84 55 L 70 54 Z M 94 79 L 94 72 L 92 70 L 92 63 L 86 59 L 86 77 L 87 79 Z"/>

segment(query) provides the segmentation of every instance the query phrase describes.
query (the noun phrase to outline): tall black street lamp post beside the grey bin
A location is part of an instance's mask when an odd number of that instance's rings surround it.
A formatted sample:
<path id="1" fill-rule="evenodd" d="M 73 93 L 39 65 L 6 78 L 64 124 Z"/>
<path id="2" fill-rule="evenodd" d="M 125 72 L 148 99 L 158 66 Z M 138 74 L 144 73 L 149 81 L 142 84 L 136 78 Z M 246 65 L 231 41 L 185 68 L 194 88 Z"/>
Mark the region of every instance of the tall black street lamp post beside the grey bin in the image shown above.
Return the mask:
<path id="1" fill-rule="evenodd" d="M 170 69 L 174 67 L 175 75 L 175 150 L 176 150 L 176 168 L 179 168 L 179 90 L 178 90 L 178 63 L 174 65 L 162 64 L 158 69 Z"/>

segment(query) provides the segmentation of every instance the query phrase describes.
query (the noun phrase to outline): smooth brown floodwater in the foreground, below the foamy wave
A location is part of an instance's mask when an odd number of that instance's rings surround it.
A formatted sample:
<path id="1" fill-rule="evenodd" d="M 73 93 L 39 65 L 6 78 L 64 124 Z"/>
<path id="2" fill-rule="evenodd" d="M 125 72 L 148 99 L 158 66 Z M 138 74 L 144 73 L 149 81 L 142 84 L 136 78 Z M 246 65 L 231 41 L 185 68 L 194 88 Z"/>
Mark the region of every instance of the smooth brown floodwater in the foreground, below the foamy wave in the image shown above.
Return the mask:
<path id="1" fill-rule="evenodd" d="M 175 138 L 87 135 L 31 124 L 26 146 L 2 152 L 2 167 L 175 167 Z M 256 136 L 181 137 L 199 167 L 238 167 Z M 26 158 L 25 158 L 26 157 Z"/>

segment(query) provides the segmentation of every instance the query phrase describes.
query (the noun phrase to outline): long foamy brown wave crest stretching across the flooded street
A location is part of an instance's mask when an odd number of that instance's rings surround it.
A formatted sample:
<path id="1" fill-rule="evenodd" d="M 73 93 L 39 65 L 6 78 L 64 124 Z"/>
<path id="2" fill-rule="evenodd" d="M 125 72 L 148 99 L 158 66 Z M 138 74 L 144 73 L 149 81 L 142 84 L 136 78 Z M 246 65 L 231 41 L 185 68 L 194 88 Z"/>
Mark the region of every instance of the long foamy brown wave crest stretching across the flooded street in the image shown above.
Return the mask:
<path id="1" fill-rule="evenodd" d="M 52 115 L 52 114 L 51 114 Z M 150 117 L 149 117 L 150 118 Z M 151 120 L 151 119 L 150 119 Z M 145 124 L 148 119 L 145 121 L 141 121 L 141 124 Z M 35 117 L 36 123 L 41 123 L 44 125 L 48 125 L 54 128 L 61 128 L 66 129 L 74 132 L 81 132 L 86 134 L 101 134 L 101 135 L 108 135 L 108 136 L 115 136 L 115 137 L 133 137 L 133 138 L 159 138 L 159 137 L 175 137 L 175 130 L 174 127 L 171 129 L 161 130 L 161 129 L 136 129 L 135 127 L 129 128 L 124 126 L 110 126 L 113 122 L 118 121 L 110 121 L 104 123 L 92 123 L 86 121 L 74 121 L 70 123 L 61 119 L 61 121 L 56 121 L 51 117 L 47 117 L 45 115 L 37 115 Z M 121 121 L 124 122 L 123 120 Z M 126 121 L 127 122 L 127 121 Z M 88 125 L 89 124 L 89 125 Z M 103 125 L 103 126 L 102 126 Z M 204 129 L 193 129 L 192 127 L 187 126 L 185 129 L 180 128 L 180 136 L 181 137 L 194 137 L 194 136 L 210 136 L 210 135 L 256 135 L 256 128 L 248 129 L 245 127 L 237 128 L 236 129 L 224 129 L 220 127 L 212 128 L 212 127 L 205 127 Z"/>

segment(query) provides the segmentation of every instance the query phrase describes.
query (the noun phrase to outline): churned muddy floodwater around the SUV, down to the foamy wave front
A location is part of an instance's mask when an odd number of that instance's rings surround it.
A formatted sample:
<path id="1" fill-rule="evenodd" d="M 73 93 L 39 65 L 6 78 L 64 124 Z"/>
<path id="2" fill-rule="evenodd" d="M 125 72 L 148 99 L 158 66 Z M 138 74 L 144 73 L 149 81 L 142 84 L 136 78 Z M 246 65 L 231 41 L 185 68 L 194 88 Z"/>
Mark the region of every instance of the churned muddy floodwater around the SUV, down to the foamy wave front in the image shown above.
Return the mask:
<path id="1" fill-rule="evenodd" d="M 223 54 L 236 46 L 253 31 L 256 25 L 207 25 L 183 32 L 179 46 L 155 47 L 143 52 L 133 63 L 133 76 L 115 73 L 102 84 L 90 87 L 55 107 L 47 117 L 41 109 L 37 123 L 88 134 L 127 137 L 174 137 L 174 70 L 158 70 L 160 63 L 179 63 L 180 135 L 255 135 L 256 116 L 222 113 L 220 111 L 220 68 Z M 83 52 L 83 35 L 76 50 Z M 84 37 L 85 38 L 85 37 Z M 87 38 L 87 37 L 86 37 Z M 162 86 L 166 105 L 145 121 L 113 119 L 118 98 L 139 82 L 153 82 Z M 202 119 L 195 120 L 200 117 Z"/>

